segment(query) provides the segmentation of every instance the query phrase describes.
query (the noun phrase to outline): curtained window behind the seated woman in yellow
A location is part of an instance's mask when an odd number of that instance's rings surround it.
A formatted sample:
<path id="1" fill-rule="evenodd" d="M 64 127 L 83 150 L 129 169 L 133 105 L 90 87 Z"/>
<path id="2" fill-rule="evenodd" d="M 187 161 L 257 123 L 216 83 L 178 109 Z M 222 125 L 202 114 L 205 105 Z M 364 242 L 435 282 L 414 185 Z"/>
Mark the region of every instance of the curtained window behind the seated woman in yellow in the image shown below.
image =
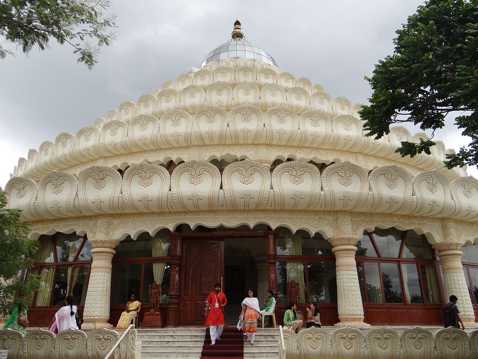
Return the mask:
<path id="1" fill-rule="evenodd" d="M 161 303 L 168 302 L 169 233 L 167 229 L 154 236 L 145 232 L 136 240 L 126 237 L 119 243 L 113 257 L 112 304 L 126 303 L 131 294 L 141 303 L 149 303 L 148 286 L 153 282 L 161 288 Z"/>

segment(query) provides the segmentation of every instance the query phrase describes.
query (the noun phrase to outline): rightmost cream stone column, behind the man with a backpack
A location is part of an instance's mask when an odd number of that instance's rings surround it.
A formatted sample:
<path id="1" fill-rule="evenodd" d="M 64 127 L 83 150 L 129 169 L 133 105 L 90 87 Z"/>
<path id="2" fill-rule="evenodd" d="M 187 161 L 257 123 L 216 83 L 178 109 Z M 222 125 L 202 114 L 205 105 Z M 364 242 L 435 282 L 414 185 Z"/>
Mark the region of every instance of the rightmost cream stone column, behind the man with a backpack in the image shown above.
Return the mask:
<path id="1" fill-rule="evenodd" d="M 460 318 L 465 327 L 478 327 L 475 323 L 475 311 L 468 292 L 468 285 L 463 271 L 462 243 L 446 242 L 434 244 L 432 247 L 438 251 L 437 256 L 442 261 L 443 277 L 445 280 L 445 301 L 448 303 L 453 294 L 458 298 Z"/>

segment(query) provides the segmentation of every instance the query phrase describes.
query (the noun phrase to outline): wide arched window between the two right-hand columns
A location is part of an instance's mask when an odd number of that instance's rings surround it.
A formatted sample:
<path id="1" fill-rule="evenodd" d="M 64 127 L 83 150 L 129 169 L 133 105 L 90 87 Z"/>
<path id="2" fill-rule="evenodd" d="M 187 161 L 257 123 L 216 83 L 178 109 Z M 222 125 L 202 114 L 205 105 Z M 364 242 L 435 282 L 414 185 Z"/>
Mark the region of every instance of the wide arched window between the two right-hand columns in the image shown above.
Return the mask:
<path id="1" fill-rule="evenodd" d="M 357 248 L 364 303 L 440 303 L 435 251 L 424 235 L 396 228 L 365 231 Z"/>

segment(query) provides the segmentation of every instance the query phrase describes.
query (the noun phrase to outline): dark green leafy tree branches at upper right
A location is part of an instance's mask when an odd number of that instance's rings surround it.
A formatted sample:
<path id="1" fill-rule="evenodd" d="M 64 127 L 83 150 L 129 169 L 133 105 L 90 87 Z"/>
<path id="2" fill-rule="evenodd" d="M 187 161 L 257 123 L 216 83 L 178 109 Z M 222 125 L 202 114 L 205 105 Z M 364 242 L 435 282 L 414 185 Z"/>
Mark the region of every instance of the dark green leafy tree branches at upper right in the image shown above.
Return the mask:
<path id="1" fill-rule="evenodd" d="M 376 65 L 370 105 L 359 112 L 367 136 L 388 134 L 391 124 L 411 122 L 431 130 L 427 140 L 402 142 L 402 157 L 430 154 L 445 116 L 471 143 L 447 154 L 445 166 L 478 164 L 478 0 L 429 0 L 396 31 L 395 50 Z M 455 112 L 455 114 L 454 114 Z"/>

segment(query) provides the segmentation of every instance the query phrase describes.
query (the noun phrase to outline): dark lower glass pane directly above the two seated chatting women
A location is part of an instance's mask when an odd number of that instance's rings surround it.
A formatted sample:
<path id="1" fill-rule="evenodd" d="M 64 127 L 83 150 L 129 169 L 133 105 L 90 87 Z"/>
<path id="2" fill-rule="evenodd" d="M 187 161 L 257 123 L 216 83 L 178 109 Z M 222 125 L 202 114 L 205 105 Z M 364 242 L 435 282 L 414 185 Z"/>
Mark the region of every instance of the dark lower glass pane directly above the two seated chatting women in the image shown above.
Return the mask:
<path id="1" fill-rule="evenodd" d="M 334 262 L 308 262 L 309 302 L 337 303 Z"/>

